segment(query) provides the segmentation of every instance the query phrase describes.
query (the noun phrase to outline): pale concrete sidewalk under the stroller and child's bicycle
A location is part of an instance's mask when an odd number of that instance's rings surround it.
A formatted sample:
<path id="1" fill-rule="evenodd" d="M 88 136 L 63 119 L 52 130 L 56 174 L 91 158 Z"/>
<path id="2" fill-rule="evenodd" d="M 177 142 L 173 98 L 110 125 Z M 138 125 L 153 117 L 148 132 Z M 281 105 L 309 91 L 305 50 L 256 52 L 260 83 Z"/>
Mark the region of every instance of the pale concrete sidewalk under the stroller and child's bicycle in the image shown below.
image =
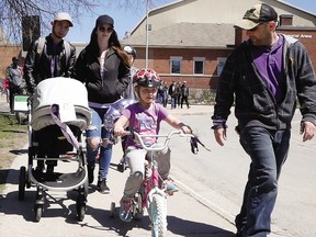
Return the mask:
<path id="1" fill-rule="evenodd" d="M 25 150 L 26 153 L 26 150 Z M 110 217 L 110 206 L 119 202 L 122 196 L 124 182 L 128 171 L 123 173 L 116 170 L 121 159 L 121 147 L 114 146 L 112 166 L 109 173 L 110 194 L 100 194 L 95 191 L 95 182 L 89 190 L 84 219 L 78 222 L 76 217 L 77 192 L 48 192 L 44 213 L 38 223 L 34 222 L 35 189 L 25 190 L 25 199 L 18 201 L 19 170 L 26 165 L 26 154 L 18 156 L 12 163 L 7 181 L 7 189 L 0 200 L 0 233 L 2 237 L 23 236 L 32 237 L 45 234 L 46 237 L 98 237 L 98 236 L 150 236 L 147 212 L 140 221 L 123 223 L 116 215 Z M 69 166 L 58 162 L 58 170 Z M 98 167 L 95 168 L 97 176 Z M 188 206 L 190 205 L 190 207 Z M 219 216 L 208 206 L 195 198 L 179 190 L 168 198 L 168 232 L 167 236 L 194 237 L 234 237 L 235 227 L 225 217 Z"/>

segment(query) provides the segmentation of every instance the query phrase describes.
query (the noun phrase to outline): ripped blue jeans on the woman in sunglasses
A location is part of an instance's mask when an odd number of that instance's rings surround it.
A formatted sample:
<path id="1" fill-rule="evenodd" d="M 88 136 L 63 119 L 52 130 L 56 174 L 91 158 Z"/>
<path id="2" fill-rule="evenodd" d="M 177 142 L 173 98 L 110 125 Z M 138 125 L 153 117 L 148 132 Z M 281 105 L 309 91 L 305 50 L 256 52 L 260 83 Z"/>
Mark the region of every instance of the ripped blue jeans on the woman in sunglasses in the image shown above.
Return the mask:
<path id="1" fill-rule="evenodd" d="M 90 108 L 92 113 L 92 121 L 89 127 L 87 128 L 87 138 L 100 137 L 106 139 L 110 137 L 110 133 L 101 127 L 103 123 L 103 116 L 106 113 L 108 109 Z M 94 166 L 95 157 L 98 155 L 98 149 L 92 149 L 90 145 L 87 145 L 87 162 L 88 166 Z M 99 174 L 98 179 L 106 179 L 109 173 L 109 168 L 112 159 L 112 144 L 109 144 L 106 147 L 100 147 L 100 158 L 99 158 Z"/>

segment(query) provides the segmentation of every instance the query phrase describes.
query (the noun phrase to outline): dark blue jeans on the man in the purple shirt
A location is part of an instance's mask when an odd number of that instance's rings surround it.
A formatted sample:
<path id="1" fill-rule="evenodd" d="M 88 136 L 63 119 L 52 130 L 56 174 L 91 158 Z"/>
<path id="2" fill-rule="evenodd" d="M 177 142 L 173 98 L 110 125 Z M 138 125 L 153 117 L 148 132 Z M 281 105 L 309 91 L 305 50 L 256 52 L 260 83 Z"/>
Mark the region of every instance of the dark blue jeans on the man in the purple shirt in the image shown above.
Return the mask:
<path id="1" fill-rule="evenodd" d="M 281 168 L 289 153 L 290 137 L 290 129 L 246 127 L 240 133 L 240 144 L 251 158 L 244 202 L 235 219 L 238 232 L 245 236 L 267 237 L 271 232 L 271 213 Z"/>

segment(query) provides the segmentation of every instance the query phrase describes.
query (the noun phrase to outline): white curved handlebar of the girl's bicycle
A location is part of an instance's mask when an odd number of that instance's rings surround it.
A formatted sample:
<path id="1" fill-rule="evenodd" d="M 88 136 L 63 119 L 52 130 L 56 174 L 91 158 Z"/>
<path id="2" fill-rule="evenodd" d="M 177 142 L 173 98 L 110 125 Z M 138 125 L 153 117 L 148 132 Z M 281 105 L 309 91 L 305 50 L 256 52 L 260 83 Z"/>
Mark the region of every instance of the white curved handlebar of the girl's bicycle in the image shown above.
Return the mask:
<path id="1" fill-rule="evenodd" d="M 178 136 L 181 136 L 181 137 L 194 137 L 193 134 L 184 134 L 181 129 L 178 129 L 178 131 L 172 131 L 170 133 L 168 133 L 167 135 L 150 135 L 150 134 L 138 134 L 137 132 L 135 131 L 125 131 L 125 135 L 127 136 L 136 136 L 142 145 L 142 147 L 148 151 L 158 151 L 158 150 L 163 150 L 168 145 L 169 145 L 169 142 L 171 139 L 172 136 L 174 135 L 178 135 Z M 144 140 L 143 140 L 143 137 L 165 137 L 165 143 L 163 145 L 159 146 L 159 147 L 149 147 L 149 146 L 146 146 L 146 144 L 144 144 Z"/>

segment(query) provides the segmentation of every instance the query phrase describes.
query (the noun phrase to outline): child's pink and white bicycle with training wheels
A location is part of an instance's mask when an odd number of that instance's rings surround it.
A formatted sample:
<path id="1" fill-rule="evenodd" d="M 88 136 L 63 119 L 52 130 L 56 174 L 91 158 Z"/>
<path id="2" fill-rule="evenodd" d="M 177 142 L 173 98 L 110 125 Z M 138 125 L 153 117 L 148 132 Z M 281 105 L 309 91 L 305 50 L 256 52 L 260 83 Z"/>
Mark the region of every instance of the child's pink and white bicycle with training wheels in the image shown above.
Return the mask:
<path id="1" fill-rule="evenodd" d="M 149 160 L 145 161 L 145 176 L 140 189 L 132 199 L 132 216 L 139 219 L 144 215 L 145 207 L 151 222 L 151 236 L 162 237 L 167 230 L 167 192 L 161 177 L 158 173 L 157 151 L 168 147 L 173 135 L 193 137 L 192 134 L 183 134 L 181 131 L 172 131 L 168 135 L 139 135 L 132 131 L 126 135 L 136 136 L 144 149 L 150 153 Z M 165 143 L 159 147 L 148 147 L 144 144 L 143 137 L 165 137 Z M 111 203 L 111 216 L 116 212 L 115 202 Z"/>

